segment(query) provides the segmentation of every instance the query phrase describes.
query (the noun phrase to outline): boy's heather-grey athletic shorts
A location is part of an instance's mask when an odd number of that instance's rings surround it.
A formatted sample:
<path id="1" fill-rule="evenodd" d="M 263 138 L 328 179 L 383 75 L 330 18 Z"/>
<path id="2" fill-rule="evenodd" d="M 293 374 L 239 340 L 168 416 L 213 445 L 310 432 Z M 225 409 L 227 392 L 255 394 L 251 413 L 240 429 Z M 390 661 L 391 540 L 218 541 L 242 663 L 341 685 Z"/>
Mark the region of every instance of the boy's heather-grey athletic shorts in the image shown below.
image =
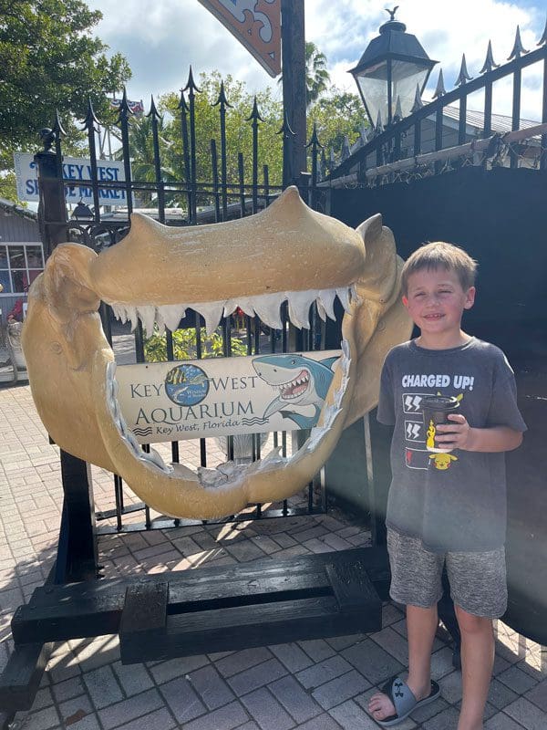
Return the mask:
<path id="1" fill-rule="evenodd" d="M 399 535 L 387 528 L 391 568 L 389 595 L 397 603 L 428 609 L 442 596 L 442 569 L 446 561 L 450 596 L 461 609 L 490 619 L 507 608 L 505 550 L 476 553 L 433 553 L 418 537 Z"/>

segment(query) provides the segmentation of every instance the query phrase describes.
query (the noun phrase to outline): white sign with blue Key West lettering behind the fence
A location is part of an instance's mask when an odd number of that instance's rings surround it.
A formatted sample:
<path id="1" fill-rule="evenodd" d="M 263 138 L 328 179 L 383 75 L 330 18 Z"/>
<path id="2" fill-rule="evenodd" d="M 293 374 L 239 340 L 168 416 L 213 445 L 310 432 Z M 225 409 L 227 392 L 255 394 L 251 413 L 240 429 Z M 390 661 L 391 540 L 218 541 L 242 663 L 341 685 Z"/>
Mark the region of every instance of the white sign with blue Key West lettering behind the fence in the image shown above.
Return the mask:
<path id="1" fill-rule="evenodd" d="M 34 155 L 26 152 L 15 152 L 15 178 L 17 182 L 17 197 L 19 200 L 26 200 L 29 203 L 37 203 L 40 200 L 38 193 L 38 172 Z M 65 197 L 67 203 L 86 203 L 93 205 L 93 188 L 91 181 L 91 162 L 76 157 L 63 157 L 63 177 L 66 180 L 74 180 L 74 185 L 65 185 Z M 100 183 L 117 183 L 125 181 L 123 162 L 113 160 L 97 161 L 97 179 Z M 101 205 L 127 205 L 125 188 L 100 188 L 98 189 L 98 201 Z"/>

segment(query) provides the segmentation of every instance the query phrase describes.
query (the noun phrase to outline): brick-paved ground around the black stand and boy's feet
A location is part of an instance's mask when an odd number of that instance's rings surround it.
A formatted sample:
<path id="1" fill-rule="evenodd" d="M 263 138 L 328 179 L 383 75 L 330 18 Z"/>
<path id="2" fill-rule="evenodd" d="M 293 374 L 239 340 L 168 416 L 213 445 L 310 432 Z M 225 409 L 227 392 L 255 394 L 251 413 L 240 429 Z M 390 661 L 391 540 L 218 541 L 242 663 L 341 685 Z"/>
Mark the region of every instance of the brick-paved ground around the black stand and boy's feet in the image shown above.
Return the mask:
<path id="1" fill-rule="evenodd" d="M 13 647 L 13 611 L 42 585 L 55 559 L 62 506 L 57 447 L 47 442 L 28 386 L 0 389 L 0 463 L 1 670 Z M 96 469 L 94 489 L 98 508 L 113 505 L 110 474 Z M 362 527 L 333 512 L 101 537 L 99 561 L 109 577 L 284 558 L 367 540 Z M 545 730 L 547 649 L 500 621 L 496 632 L 485 726 Z M 273 646 L 265 635 L 257 649 L 167 662 L 122 666 L 114 636 L 68 641 L 57 645 L 32 710 L 17 714 L 13 727 L 372 730 L 378 725 L 364 709 L 368 697 L 406 664 L 405 622 L 391 604 L 383 630 L 372 635 Z M 442 698 L 397 725 L 401 730 L 456 728 L 461 677 L 442 630 L 432 666 Z"/>

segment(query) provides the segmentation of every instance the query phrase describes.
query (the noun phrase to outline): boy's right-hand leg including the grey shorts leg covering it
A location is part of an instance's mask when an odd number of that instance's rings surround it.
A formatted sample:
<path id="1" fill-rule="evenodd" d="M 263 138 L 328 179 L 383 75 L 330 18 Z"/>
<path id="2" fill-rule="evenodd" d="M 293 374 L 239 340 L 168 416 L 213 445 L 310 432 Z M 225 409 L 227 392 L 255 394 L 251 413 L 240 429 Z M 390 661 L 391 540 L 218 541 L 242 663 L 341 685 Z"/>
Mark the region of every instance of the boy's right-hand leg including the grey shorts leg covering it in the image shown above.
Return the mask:
<path id="1" fill-rule="evenodd" d="M 481 730 L 494 662 L 492 619 L 507 607 L 505 551 L 449 553 L 447 568 L 461 632 L 458 730 Z"/>

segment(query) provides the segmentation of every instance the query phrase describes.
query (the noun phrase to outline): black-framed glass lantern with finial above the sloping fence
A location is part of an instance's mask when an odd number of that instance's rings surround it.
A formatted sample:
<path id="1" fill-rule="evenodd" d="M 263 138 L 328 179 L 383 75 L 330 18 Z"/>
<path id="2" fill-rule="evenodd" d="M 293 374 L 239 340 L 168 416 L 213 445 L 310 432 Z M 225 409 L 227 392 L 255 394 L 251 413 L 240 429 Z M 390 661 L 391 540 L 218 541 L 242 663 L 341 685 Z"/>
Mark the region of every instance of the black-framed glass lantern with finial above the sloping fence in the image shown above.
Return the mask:
<path id="1" fill-rule="evenodd" d="M 407 26 L 395 20 L 396 11 L 397 7 L 387 10 L 390 19 L 370 41 L 356 68 L 350 70 L 373 127 L 407 117 L 417 86 L 421 94 L 438 63 L 428 57 L 416 36 L 406 32 Z"/>

